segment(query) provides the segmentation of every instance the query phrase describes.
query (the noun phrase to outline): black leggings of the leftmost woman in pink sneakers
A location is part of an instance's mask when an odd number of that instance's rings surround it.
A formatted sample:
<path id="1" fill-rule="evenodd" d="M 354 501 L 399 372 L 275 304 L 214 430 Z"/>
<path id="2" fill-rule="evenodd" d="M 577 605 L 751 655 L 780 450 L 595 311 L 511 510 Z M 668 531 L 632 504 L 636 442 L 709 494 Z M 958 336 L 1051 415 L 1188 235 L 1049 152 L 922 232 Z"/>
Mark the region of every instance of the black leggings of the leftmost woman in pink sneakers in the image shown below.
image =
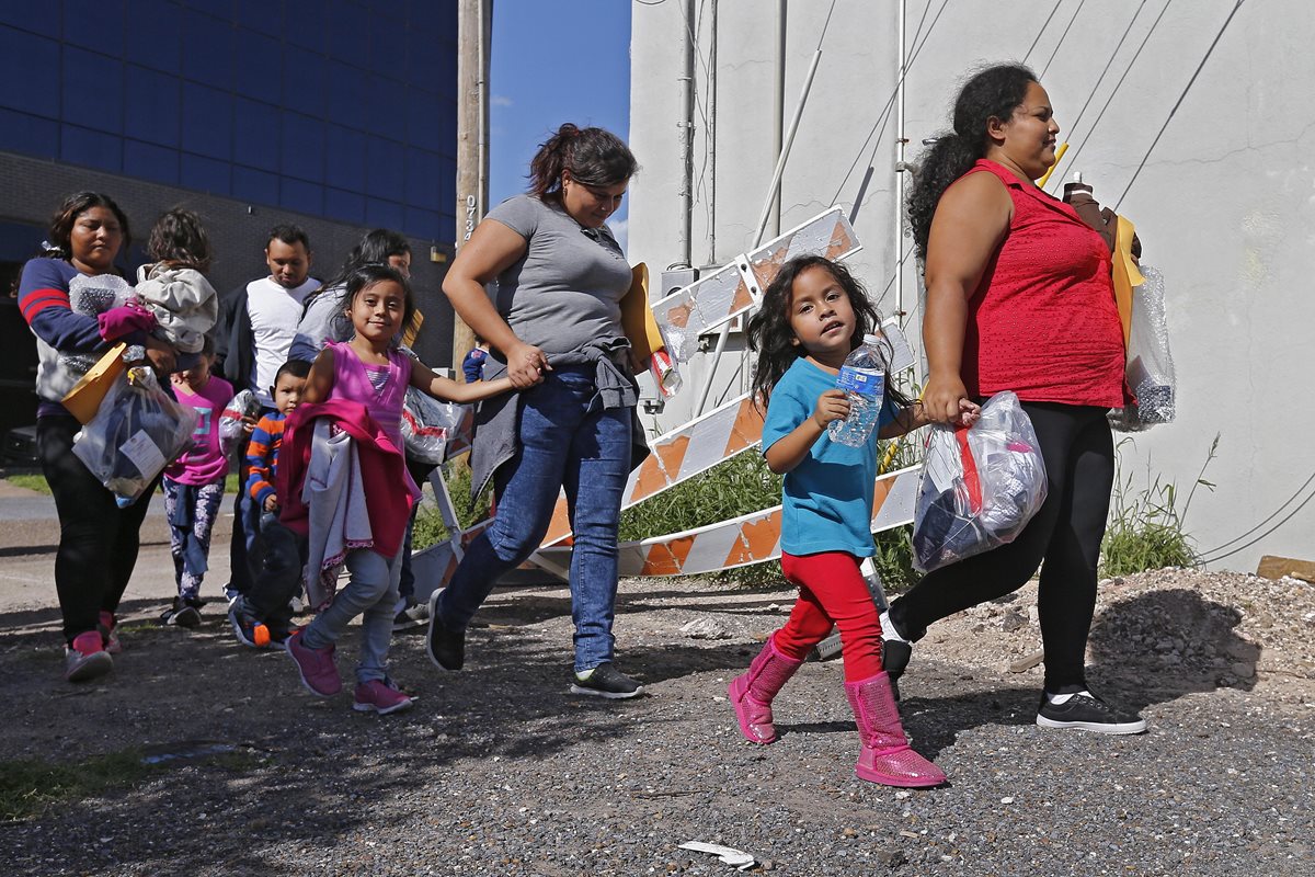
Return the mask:
<path id="1" fill-rule="evenodd" d="M 142 519 L 155 492 L 120 509 L 114 494 L 74 454 L 82 429 L 71 417 L 37 419 L 41 469 L 59 513 L 55 590 L 64 617 L 64 639 L 96 630 L 101 611 L 117 611 L 137 565 Z"/>

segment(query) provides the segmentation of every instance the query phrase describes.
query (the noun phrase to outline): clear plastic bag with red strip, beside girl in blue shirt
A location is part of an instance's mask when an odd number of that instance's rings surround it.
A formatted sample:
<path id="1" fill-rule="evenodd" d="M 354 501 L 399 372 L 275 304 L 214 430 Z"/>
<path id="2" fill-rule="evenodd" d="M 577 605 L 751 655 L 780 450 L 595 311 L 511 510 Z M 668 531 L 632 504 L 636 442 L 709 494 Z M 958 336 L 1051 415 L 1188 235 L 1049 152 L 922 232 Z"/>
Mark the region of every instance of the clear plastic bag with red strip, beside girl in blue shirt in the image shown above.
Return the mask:
<path id="1" fill-rule="evenodd" d="M 931 572 L 1013 542 L 1045 501 L 1045 464 L 1018 396 L 970 429 L 932 426 L 914 509 L 914 567 Z"/>

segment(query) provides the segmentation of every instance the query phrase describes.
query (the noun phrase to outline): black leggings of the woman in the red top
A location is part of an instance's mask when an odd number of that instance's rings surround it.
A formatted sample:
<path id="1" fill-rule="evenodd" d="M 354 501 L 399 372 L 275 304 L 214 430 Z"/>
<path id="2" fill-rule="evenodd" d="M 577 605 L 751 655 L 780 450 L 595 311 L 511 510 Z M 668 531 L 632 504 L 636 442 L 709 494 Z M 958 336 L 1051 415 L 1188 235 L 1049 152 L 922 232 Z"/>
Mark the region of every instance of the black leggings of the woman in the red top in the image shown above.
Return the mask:
<path id="1" fill-rule="evenodd" d="M 1023 402 L 1023 410 L 1045 460 L 1045 502 L 1010 544 L 927 575 L 890 604 L 890 619 L 909 639 L 920 639 L 932 622 L 1018 590 L 1040 565 L 1045 690 L 1080 692 L 1114 486 L 1114 438 L 1103 408 Z"/>

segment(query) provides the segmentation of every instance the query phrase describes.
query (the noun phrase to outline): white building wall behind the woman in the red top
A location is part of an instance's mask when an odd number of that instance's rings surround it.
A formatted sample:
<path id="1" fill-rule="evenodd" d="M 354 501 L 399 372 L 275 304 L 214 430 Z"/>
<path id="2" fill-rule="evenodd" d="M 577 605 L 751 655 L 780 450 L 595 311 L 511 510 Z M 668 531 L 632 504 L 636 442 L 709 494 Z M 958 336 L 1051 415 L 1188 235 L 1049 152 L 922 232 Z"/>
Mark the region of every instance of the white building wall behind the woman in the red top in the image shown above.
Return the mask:
<path id="1" fill-rule="evenodd" d="M 694 0 L 693 5 L 702 113 L 694 133 L 692 262 L 706 266 L 750 247 L 771 180 L 778 4 Z M 831 4 L 785 5 L 788 122 Z M 1061 139 L 1070 143 L 1049 189 L 1057 192 L 1061 176 L 1081 170 L 1097 197 L 1112 206 L 1136 174 L 1119 212 L 1137 225 L 1144 260 L 1166 277 L 1178 421 L 1127 444 L 1124 473 L 1139 489 L 1148 471 L 1152 479 L 1176 481 L 1181 508 L 1218 433 L 1218 458 L 1206 472 L 1218 486 L 1197 492 L 1186 527 L 1208 552 L 1262 525 L 1315 472 L 1315 405 L 1308 398 L 1315 376 L 1310 339 L 1315 12 L 1310 4 L 1243 3 L 1222 36 L 1235 0 L 1061 0 L 1057 8 L 1051 0 L 906 0 L 905 5 L 906 45 L 914 55 L 903 128 L 910 160 L 923 138 L 948 125 L 949 101 L 972 68 L 1026 58 L 1049 91 L 1064 128 Z M 648 262 L 655 275 L 680 260 L 677 121 L 685 8 L 685 0 L 633 4 L 630 131 L 643 171 L 631 185 L 630 256 Z M 714 9 L 713 158 L 706 109 Z M 898 135 L 893 112 L 878 125 L 897 82 L 898 9 L 899 0 L 835 3 L 785 168 L 780 218 L 780 227 L 788 229 L 832 199 L 855 212 L 865 249 L 851 264 L 888 314 L 896 310 L 897 260 L 909 252 L 905 238 L 897 254 L 893 230 Z M 1216 36 L 1218 45 L 1148 155 Z M 709 197 L 713 175 L 715 202 Z M 903 313 L 913 339 L 920 317 L 917 289 L 909 258 Z M 744 385 L 743 375 L 735 373 L 738 358 L 727 359 L 710 405 Z M 690 383 L 697 384 L 702 371 L 702 363 L 692 363 Z M 694 389 L 686 387 L 668 402 L 654 426 L 671 429 L 688 419 Z M 1231 547 L 1281 522 L 1277 530 L 1216 565 L 1255 569 L 1261 554 L 1315 557 L 1315 502 L 1294 510 L 1310 492 Z"/>

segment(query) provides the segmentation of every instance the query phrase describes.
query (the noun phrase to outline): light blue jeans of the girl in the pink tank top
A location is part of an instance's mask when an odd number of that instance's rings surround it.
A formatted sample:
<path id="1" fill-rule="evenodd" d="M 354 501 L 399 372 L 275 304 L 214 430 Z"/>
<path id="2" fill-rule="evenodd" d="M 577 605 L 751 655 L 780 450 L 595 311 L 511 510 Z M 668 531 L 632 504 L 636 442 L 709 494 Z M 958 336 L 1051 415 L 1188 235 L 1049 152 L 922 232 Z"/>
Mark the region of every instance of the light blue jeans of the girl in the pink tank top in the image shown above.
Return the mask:
<path id="1" fill-rule="evenodd" d="M 393 617 L 397 605 L 397 577 L 402 571 L 402 555 L 392 559 L 356 548 L 347 552 L 347 572 L 351 579 L 333 596 L 333 602 L 306 626 L 301 642 L 306 648 L 326 648 L 338 642 L 347 625 L 360 615 L 360 663 L 356 681 L 388 678 L 388 646 L 393 639 Z"/>

